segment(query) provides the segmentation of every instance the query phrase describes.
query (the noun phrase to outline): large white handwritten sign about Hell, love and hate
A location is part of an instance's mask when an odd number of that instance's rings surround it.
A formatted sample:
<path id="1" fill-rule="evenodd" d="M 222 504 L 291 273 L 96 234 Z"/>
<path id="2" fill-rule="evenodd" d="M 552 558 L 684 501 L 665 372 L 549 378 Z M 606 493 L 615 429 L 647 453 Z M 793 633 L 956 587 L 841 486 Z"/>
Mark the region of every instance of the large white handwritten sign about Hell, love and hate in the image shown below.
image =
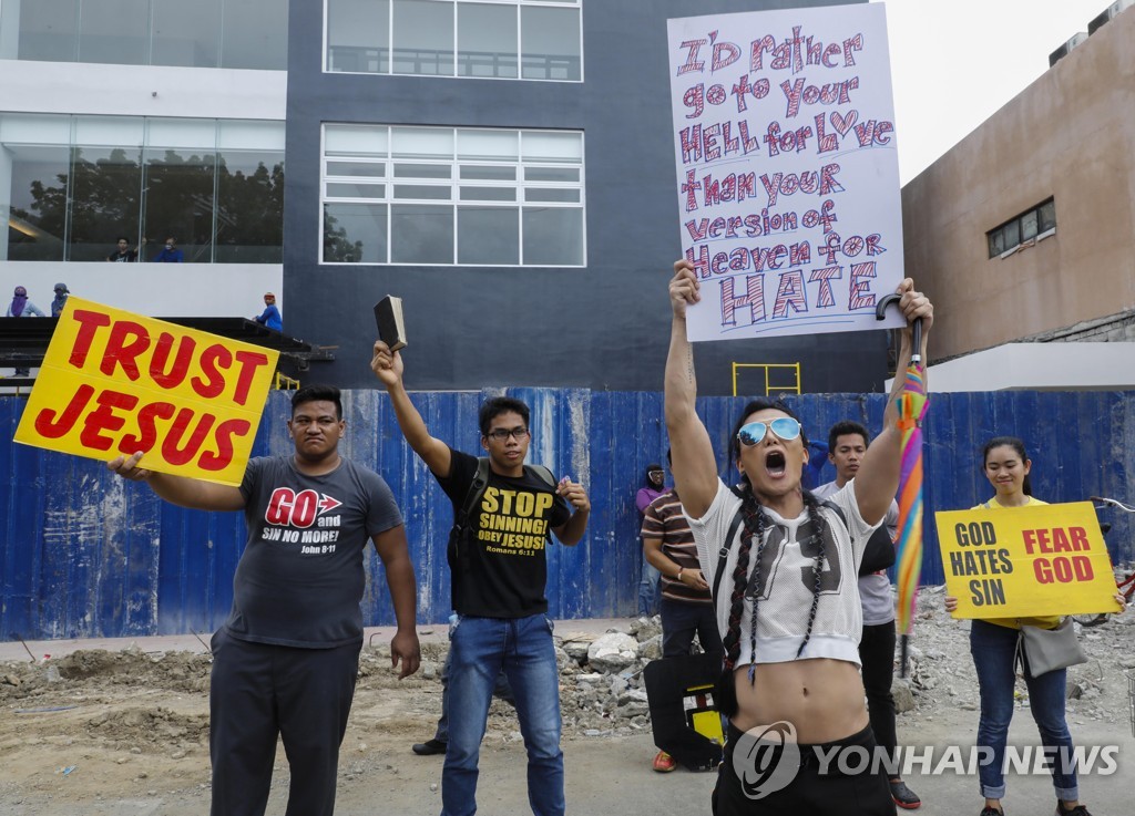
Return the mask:
<path id="1" fill-rule="evenodd" d="M 875 3 L 672 19 L 690 340 L 901 325 L 886 22 Z"/>

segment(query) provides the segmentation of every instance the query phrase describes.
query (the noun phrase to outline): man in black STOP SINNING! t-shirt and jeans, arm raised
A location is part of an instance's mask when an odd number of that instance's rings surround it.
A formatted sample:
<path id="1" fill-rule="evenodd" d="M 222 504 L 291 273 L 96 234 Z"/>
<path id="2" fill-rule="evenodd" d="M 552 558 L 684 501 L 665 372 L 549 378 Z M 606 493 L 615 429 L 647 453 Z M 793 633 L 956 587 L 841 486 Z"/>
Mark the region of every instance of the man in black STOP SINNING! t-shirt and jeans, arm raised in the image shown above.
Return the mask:
<path id="1" fill-rule="evenodd" d="M 370 365 L 390 396 L 406 442 L 449 496 L 456 517 L 477 475 L 477 458 L 430 435 L 402 383 L 400 352 L 376 342 Z M 545 546 L 549 532 L 563 544 L 578 544 L 591 504 L 581 484 L 564 477 L 553 486 L 524 466 L 531 442 L 528 406 L 497 397 L 481 406 L 479 419 L 488 484 L 469 513 L 468 533 L 449 558 L 457 622 L 449 645 L 449 743 L 442 772 L 442 815 L 471 816 L 477 810 L 477 762 L 493 687 L 503 668 L 528 749 L 532 811 L 561 816 L 560 671 L 544 594 Z"/>

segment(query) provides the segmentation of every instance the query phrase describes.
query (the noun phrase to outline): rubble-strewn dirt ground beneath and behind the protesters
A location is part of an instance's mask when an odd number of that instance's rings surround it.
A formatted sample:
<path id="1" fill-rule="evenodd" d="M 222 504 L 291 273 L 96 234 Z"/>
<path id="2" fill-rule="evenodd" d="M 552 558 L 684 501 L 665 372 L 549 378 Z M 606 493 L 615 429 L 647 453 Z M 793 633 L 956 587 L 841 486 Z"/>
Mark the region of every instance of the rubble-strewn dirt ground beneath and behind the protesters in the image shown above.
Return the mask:
<path id="1" fill-rule="evenodd" d="M 940 596 L 924 593 L 925 611 L 911 686 L 915 708 L 899 716 L 900 743 L 973 745 L 976 680 L 965 622 L 940 611 Z M 936 604 L 936 605 L 935 605 Z M 923 604 L 920 603 L 920 607 Z M 557 635 L 571 637 L 564 621 Z M 629 621 L 615 622 L 624 627 Z M 1118 748 L 1118 770 L 1082 774 L 1081 788 L 1094 816 L 1132 816 L 1132 738 L 1127 674 L 1135 669 L 1135 614 L 1082 632 L 1092 660 L 1069 670 L 1075 698 L 1068 720 L 1077 745 Z M 432 734 L 440 708 L 437 679 L 446 644 L 434 630 L 423 638 L 423 666 L 397 681 L 379 634 L 363 649 L 359 687 L 339 763 L 337 813 L 437 814 L 440 757 L 417 757 L 410 745 Z M 625 629 L 624 629 L 625 630 Z M 602 629 L 599 630 L 602 631 Z M 592 635 L 594 637 L 594 635 Z M 82 644 L 79 644 L 82 646 Z M 146 640 L 118 649 L 78 648 L 68 654 L 0 657 L 0 813 L 203 814 L 209 809 L 210 656 L 196 651 L 146 651 Z M 17 645 L 18 646 L 18 645 Z M 43 644 L 30 645 L 33 652 Z M 23 651 L 23 649 L 20 649 Z M 61 652 L 62 649 L 57 649 Z M 714 774 L 649 770 L 655 748 L 641 723 L 615 721 L 574 695 L 575 678 L 562 675 L 564 753 L 569 811 L 578 814 L 709 811 Z M 1024 689 L 1024 686 L 1020 687 Z M 1025 700 L 1022 700 L 1025 706 Z M 595 709 L 595 711 L 592 711 Z M 606 724 L 606 728 L 602 725 Z M 599 728 L 597 728 L 597 725 Z M 1027 707 L 1011 740 L 1034 745 Z M 494 702 L 481 754 L 478 796 L 482 814 L 528 813 L 524 753 L 512 709 Z M 287 763 L 277 754 L 269 814 L 281 814 Z M 980 809 L 976 780 L 952 773 L 908 776 L 923 799 L 923 814 Z M 1051 813 L 1051 783 L 1043 775 L 1010 780 L 1007 810 Z"/>

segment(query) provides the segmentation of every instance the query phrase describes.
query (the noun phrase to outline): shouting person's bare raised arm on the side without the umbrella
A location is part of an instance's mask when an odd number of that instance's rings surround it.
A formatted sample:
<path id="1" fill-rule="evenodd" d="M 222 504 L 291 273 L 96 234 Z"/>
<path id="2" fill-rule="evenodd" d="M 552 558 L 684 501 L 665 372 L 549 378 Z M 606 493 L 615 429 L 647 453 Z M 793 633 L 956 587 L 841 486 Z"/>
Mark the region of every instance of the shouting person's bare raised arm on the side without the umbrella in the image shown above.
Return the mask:
<path id="1" fill-rule="evenodd" d="M 701 299 L 693 266 L 686 260 L 674 263 L 670 281 L 670 355 L 666 357 L 666 433 L 674 487 L 691 518 L 701 518 L 717 493 L 717 462 L 709 434 L 695 410 L 698 396 L 693 373 L 693 349 L 686 337 L 686 307 Z"/>

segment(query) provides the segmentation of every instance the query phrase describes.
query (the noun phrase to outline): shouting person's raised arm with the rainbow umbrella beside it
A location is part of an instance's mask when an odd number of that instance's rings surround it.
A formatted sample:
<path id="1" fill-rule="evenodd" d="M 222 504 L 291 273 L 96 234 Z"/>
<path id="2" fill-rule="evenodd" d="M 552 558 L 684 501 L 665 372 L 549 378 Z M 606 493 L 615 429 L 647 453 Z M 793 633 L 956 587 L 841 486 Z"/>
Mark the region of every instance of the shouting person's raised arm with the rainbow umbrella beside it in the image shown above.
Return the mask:
<path id="1" fill-rule="evenodd" d="M 926 360 L 926 338 L 930 335 L 930 328 L 934 323 L 934 305 L 919 291 L 915 291 L 915 283 L 909 278 L 905 279 L 896 290 L 902 297 L 899 300 L 899 311 L 907 318 L 907 325 L 899 332 L 899 356 L 898 367 L 894 372 L 894 381 L 891 383 L 891 396 L 886 401 L 886 410 L 883 414 L 883 431 L 867 448 L 864 453 L 863 464 L 855 477 L 855 494 L 859 502 L 859 515 L 865 521 L 875 524 L 886 515 L 886 509 L 894 499 L 894 493 L 899 488 L 899 470 L 902 458 L 902 431 L 899 430 L 899 397 L 902 394 L 902 386 L 906 381 L 906 369 L 910 363 L 911 348 L 914 346 L 910 326 L 916 318 L 922 318 L 922 355 L 923 364 Z M 923 384 L 926 383 L 926 375 L 923 373 Z"/>

